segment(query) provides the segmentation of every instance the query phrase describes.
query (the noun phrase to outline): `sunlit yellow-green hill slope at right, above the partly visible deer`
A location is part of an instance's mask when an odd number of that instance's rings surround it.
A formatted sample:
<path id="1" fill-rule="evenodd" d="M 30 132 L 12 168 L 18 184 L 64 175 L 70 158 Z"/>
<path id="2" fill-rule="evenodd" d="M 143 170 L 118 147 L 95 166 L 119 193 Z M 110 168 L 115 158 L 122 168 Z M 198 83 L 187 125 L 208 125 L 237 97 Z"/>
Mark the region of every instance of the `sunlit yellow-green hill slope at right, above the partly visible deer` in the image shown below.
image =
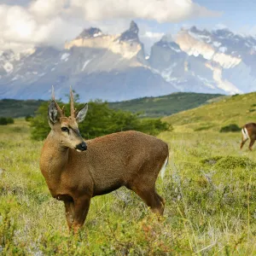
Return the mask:
<path id="1" fill-rule="evenodd" d="M 225 97 L 164 118 L 175 131 L 219 131 L 224 125 L 256 122 L 256 92 Z"/>

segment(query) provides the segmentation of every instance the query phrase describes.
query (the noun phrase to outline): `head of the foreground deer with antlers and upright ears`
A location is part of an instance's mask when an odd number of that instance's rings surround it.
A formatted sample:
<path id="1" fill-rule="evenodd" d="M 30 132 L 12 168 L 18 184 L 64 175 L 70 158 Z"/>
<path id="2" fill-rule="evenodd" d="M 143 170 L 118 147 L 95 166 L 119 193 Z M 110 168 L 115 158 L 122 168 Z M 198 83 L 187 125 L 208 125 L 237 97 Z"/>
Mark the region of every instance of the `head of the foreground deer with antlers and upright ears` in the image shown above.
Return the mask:
<path id="1" fill-rule="evenodd" d="M 66 117 L 64 107 L 60 108 L 55 101 L 54 90 L 52 89 L 52 101 L 48 107 L 49 126 L 53 131 L 53 136 L 59 138 L 61 146 L 64 148 L 73 148 L 81 152 L 87 149 L 84 139 L 79 132 L 78 123 L 82 122 L 86 116 L 88 104 L 84 105 L 79 111 L 76 111 L 73 103 L 73 92 L 70 88 L 70 116 Z"/>

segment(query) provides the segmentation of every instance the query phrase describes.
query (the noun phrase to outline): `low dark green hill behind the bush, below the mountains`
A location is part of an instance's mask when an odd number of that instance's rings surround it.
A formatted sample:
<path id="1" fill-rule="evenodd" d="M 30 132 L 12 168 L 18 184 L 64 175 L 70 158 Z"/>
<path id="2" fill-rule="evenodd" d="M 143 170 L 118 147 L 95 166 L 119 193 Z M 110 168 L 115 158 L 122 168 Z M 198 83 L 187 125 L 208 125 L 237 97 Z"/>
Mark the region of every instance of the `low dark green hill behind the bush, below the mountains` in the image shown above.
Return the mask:
<path id="1" fill-rule="evenodd" d="M 144 97 L 125 102 L 110 102 L 109 107 L 133 113 L 142 112 L 147 117 L 160 117 L 196 108 L 219 96 L 221 95 L 177 92 L 166 96 Z"/>

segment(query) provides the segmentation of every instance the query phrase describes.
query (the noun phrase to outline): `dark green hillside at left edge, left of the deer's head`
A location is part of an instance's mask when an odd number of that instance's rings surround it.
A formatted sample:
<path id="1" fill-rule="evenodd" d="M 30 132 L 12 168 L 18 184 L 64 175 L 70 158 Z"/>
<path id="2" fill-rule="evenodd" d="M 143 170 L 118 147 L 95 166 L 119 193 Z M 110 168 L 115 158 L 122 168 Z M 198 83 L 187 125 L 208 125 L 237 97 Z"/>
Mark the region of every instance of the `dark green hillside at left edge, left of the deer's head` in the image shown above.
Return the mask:
<path id="1" fill-rule="evenodd" d="M 24 117 L 33 115 L 38 107 L 42 104 L 42 100 L 0 100 L 0 117 Z"/>

